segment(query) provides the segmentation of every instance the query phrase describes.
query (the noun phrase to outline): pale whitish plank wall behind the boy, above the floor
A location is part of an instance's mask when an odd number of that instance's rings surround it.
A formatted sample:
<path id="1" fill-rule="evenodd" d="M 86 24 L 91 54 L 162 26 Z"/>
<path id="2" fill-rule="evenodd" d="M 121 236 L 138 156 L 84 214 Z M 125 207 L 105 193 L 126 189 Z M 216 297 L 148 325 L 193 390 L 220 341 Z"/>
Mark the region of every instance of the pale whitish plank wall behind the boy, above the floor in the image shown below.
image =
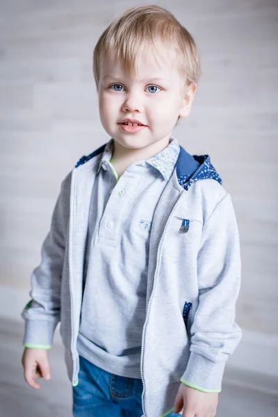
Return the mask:
<path id="1" fill-rule="evenodd" d="M 278 346 L 277 0 L 1 2 L 0 311 L 19 317 L 60 181 L 109 139 L 92 76 L 95 43 L 122 10 L 147 3 L 172 11 L 201 56 L 193 112 L 174 136 L 188 152 L 210 154 L 233 198 L 244 334 L 232 361 L 277 373 L 267 362 Z"/>

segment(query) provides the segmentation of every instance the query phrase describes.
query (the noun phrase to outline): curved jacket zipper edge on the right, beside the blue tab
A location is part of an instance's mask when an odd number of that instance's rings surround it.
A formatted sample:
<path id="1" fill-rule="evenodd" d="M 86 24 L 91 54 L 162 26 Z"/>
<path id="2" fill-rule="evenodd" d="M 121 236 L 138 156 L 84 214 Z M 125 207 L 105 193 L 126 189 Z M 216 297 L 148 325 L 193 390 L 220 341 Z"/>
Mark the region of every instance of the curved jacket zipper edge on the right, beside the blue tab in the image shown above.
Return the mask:
<path id="1" fill-rule="evenodd" d="M 179 200 L 181 199 L 181 197 L 183 197 L 184 193 L 186 193 L 186 190 L 181 192 L 181 195 L 177 199 L 177 202 L 175 202 L 175 204 L 174 204 L 174 206 L 171 210 L 171 213 L 167 218 L 167 221 L 165 223 L 165 227 L 163 229 L 163 234 L 161 236 L 161 240 L 159 240 L 159 243 L 158 243 L 158 250 L 157 250 L 157 253 L 156 253 L 156 269 L 154 271 L 154 281 L 153 281 L 153 286 L 152 286 L 152 293 L 149 297 L 149 303 L 148 303 L 148 306 L 147 306 L 147 315 L 146 315 L 145 323 L 144 323 L 143 330 L 142 330 L 142 350 L 141 350 L 141 359 L 140 359 L 140 373 L 141 373 L 142 386 L 143 386 L 143 390 L 142 390 L 142 411 L 143 411 L 143 414 L 142 414 L 141 417 L 147 417 L 146 414 L 145 414 L 145 404 L 144 404 L 145 381 L 144 381 L 144 376 L 143 376 L 143 355 L 144 355 L 145 332 L 146 332 L 147 321 L 149 319 L 149 310 L 150 310 L 152 298 L 154 296 L 154 290 L 155 290 L 155 287 L 156 287 L 156 275 L 157 275 L 157 271 L 158 271 L 158 260 L 159 260 L 159 256 L 160 256 L 161 243 L 163 241 L 163 238 L 164 238 L 164 235 L 165 235 L 165 232 L 166 232 L 166 229 L 167 229 L 167 224 L 170 222 L 170 219 L 172 218 L 172 213 L 174 212 L 175 208 L 179 204 Z"/>

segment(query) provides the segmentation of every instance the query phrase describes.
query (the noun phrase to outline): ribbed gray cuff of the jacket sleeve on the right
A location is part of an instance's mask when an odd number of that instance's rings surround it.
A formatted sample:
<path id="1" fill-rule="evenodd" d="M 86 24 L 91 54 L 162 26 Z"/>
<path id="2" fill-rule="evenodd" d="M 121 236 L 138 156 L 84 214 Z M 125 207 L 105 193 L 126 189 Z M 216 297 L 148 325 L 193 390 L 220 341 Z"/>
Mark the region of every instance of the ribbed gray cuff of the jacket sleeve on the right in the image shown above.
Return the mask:
<path id="1" fill-rule="evenodd" d="M 213 362 L 195 352 L 190 352 L 183 384 L 206 393 L 220 393 L 226 361 Z"/>

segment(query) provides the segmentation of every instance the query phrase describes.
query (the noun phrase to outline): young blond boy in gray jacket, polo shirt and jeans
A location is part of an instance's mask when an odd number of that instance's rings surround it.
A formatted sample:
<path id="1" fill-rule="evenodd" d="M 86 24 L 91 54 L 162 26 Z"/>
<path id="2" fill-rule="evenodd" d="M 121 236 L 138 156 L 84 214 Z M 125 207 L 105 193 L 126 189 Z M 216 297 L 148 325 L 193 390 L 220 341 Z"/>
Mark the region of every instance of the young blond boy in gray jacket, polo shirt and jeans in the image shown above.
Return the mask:
<path id="1" fill-rule="evenodd" d="M 132 8 L 99 38 L 94 75 L 111 140 L 62 183 L 22 313 L 26 382 L 50 378 L 61 322 L 75 417 L 213 417 L 241 338 L 240 246 L 209 156 L 172 136 L 195 42 L 164 8 Z"/>

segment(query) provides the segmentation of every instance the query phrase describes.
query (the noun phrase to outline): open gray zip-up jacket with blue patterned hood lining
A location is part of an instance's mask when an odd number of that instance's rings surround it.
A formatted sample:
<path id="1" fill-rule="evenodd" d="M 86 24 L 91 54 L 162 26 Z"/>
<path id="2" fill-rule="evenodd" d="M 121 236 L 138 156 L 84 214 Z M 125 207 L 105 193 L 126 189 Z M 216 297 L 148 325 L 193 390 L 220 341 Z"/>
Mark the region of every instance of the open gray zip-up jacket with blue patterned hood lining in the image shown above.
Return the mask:
<path id="1" fill-rule="evenodd" d="M 104 147 L 83 156 L 61 185 L 42 261 L 31 277 L 32 300 L 22 312 L 26 347 L 50 348 L 61 323 L 74 386 L 90 193 Z M 140 358 L 142 417 L 169 414 L 181 382 L 221 391 L 225 363 L 242 336 L 235 322 L 240 269 L 231 197 L 209 156 L 191 156 L 180 146 L 152 220 Z"/>

